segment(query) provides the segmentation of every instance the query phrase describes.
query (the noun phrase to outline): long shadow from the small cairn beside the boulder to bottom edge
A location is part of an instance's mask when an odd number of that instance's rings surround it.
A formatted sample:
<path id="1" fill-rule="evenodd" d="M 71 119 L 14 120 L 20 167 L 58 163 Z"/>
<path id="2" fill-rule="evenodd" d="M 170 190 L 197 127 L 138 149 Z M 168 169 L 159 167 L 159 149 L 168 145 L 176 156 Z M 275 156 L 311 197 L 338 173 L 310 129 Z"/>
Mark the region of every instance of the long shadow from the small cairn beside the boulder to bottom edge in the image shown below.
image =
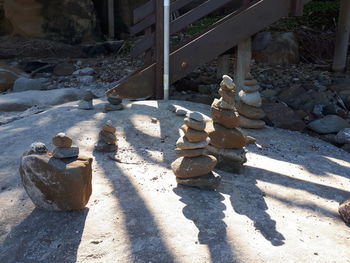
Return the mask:
<path id="1" fill-rule="evenodd" d="M 111 161 L 109 154 L 94 151 L 95 162 L 112 183 L 114 195 L 125 218 L 132 260 L 134 262 L 175 262 L 163 240 L 152 212 L 133 185 L 129 175 Z M 103 163 L 103 165 L 102 165 Z M 113 171 L 113 174 L 110 173 Z"/>

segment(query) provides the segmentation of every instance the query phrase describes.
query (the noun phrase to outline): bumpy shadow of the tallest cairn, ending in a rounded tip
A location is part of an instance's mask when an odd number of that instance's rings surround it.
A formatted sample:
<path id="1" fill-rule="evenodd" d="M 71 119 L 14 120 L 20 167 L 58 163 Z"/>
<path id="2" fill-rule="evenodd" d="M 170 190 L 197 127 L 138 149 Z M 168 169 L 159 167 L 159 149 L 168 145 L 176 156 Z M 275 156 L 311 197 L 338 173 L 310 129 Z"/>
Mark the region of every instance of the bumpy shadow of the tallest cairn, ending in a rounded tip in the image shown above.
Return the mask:
<path id="1" fill-rule="evenodd" d="M 227 176 L 225 172 L 217 171 L 223 178 L 219 192 L 230 196 L 231 205 L 237 214 L 247 216 L 257 231 L 273 246 L 282 246 L 284 236 L 277 231 L 276 221 L 267 213 L 264 193 L 257 187 L 256 178 L 247 175 Z M 228 179 L 231 177 L 231 180 Z"/>

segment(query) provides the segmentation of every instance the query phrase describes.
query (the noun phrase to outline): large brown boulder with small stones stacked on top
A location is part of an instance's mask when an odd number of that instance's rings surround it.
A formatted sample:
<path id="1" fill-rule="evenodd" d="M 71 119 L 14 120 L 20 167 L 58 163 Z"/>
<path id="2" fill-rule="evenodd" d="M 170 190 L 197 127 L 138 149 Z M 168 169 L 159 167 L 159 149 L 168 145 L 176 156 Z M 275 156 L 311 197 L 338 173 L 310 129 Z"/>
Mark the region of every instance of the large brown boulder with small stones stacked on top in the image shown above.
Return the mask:
<path id="1" fill-rule="evenodd" d="M 35 142 L 21 158 L 22 184 L 33 203 L 45 210 L 79 210 L 89 201 L 92 185 L 92 158 L 79 155 L 72 139 L 59 133 L 49 151 Z"/>

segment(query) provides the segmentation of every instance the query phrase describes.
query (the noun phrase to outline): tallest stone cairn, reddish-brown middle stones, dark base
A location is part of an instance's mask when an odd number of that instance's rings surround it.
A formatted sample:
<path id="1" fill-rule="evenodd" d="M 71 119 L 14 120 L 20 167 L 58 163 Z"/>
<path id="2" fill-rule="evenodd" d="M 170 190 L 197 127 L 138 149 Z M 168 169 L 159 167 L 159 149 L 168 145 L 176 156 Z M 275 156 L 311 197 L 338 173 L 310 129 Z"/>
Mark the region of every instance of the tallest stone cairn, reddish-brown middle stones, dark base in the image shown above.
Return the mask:
<path id="1" fill-rule="evenodd" d="M 213 123 L 207 129 L 210 138 L 207 150 L 216 157 L 218 169 L 239 173 L 247 161 L 243 147 L 248 139 L 237 129 L 240 119 L 235 108 L 235 88 L 232 79 L 224 75 L 219 89 L 221 98 L 211 105 Z"/>

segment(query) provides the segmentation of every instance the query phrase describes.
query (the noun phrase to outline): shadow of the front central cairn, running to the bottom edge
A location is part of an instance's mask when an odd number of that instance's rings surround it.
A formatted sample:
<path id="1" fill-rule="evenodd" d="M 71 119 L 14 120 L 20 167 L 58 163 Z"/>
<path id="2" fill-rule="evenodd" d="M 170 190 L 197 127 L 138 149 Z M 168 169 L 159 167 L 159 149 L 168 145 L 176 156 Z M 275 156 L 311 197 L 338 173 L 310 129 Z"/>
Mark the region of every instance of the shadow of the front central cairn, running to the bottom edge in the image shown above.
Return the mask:
<path id="1" fill-rule="evenodd" d="M 236 262 L 236 256 L 227 240 L 227 225 L 223 221 L 225 199 L 215 191 L 204 191 L 179 185 L 173 192 L 186 204 L 182 212 L 199 230 L 198 241 L 207 245 L 210 262 Z"/>

